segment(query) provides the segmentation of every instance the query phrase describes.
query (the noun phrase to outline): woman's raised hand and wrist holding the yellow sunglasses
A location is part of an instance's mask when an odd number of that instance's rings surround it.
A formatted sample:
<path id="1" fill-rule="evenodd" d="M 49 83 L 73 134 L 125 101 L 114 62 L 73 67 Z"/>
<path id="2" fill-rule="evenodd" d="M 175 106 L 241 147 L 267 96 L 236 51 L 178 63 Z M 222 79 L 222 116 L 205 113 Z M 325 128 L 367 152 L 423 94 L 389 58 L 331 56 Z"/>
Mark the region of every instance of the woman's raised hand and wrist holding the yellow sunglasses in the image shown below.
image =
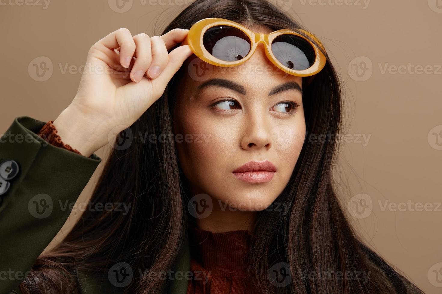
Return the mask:
<path id="1" fill-rule="evenodd" d="M 89 49 L 76 96 L 53 122 L 63 142 L 90 156 L 108 143 L 111 130 L 120 132 L 134 123 L 192 55 L 188 45 L 168 53 L 188 31 L 132 37 L 121 28 L 96 42 Z"/>

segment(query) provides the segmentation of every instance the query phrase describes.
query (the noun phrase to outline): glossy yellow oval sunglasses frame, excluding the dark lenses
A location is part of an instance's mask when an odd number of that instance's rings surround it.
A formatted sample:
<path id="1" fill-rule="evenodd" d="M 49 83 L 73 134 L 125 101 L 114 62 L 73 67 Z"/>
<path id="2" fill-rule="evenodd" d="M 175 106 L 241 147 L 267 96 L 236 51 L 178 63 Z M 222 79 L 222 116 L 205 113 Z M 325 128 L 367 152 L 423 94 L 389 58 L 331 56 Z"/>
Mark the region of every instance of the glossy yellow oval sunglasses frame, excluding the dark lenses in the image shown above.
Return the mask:
<path id="1" fill-rule="evenodd" d="M 232 27 L 244 32 L 248 36 L 250 43 L 251 43 L 251 48 L 250 48 L 250 51 L 248 52 L 248 54 L 246 56 L 244 56 L 244 58 L 237 60 L 237 61 L 224 61 L 224 60 L 218 59 L 215 56 L 213 56 L 212 54 L 210 54 L 206 50 L 206 48 L 204 47 L 203 36 L 204 36 L 204 33 L 206 33 L 206 30 L 210 29 L 213 26 L 232 26 Z M 240 64 L 246 62 L 253 55 L 258 44 L 263 43 L 267 58 L 280 70 L 282 70 L 288 74 L 292 74 L 292 75 L 296 75 L 296 76 L 300 76 L 300 77 L 312 77 L 313 75 L 317 74 L 318 72 L 320 72 L 324 68 L 325 63 L 327 62 L 327 58 L 324 56 L 324 53 L 312 41 L 310 41 L 308 38 L 303 36 L 300 32 L 311 37 L 312 40 L 316 41 L 316 43 L 318 45 L 320 45 L 320 47 L 325 52 L 324 45 L 322 45 L 322 43 L 319 41 L 319 39 L 316 38 L 312 33 L 309 33 L 306 30 L 298 29 L 297 31 L 293 31 L 293 30 L 289 30 L 289 29 L 282 29 L 282 30 L 277 30 L 277 31 L 274 31 L 274 32 L 271 32 L 268 34 L 255 33 L 255 32 L 252 32 L 251 30 L 249 30 L 248 28 L 240 25 L 237 22 L 233 22 L 228 19 L 220 19 L 220 18 L 207 18 L 207 19 L 201 19 L 198 22 L 195 22 L 194 25 L 191 26 L 191 28 L 187 34 L 187 37 L 184 39 L 182 45 L 189 45 L 189 47 L 194 52 L 194 54 L 196 56 L 198 56 L 198 58 L 200 58 L 201 60 L 205 61 L 206 63 L 210 63 L 212 65 L 220 66 L 220 67 L 231 67 L 231 66 L 237 66 L 237 65 L 240 65 Z M 276 57 L 274 56 L 274 54 L 271 50 L 271 44 L 272 44 L 272 41 L 276 37 L 283 35 L 283 34 L 295 35 L 295 36 L 303 38 L 304 40 L 306 40 L 310 43 L 310 45 L 312 46 L 312 48 L 315 52 L 315 61 L 313 62 L 311 67 L 309 67 L 305 70 L 292 70 L 292 69 L 284 66 L 282 63 L 280 63 L 276 59 Z M 311 79 L 309 79 L 309 80 L 311 80 Z"/>

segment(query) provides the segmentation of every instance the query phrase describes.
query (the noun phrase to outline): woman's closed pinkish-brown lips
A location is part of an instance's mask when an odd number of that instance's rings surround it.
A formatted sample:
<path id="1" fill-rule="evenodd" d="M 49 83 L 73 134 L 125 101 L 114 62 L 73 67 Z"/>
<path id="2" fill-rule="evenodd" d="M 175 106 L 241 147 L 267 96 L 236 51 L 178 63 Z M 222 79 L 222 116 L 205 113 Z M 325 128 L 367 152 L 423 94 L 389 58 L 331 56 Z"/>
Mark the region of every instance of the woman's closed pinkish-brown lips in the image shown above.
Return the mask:
<path id="1" fill-rule="evenodd" d="M 248 183 L 265 183 L 273 179 L 276 167 L 268 160 L 249 161 L 232 171 L 241 181 Z"/>

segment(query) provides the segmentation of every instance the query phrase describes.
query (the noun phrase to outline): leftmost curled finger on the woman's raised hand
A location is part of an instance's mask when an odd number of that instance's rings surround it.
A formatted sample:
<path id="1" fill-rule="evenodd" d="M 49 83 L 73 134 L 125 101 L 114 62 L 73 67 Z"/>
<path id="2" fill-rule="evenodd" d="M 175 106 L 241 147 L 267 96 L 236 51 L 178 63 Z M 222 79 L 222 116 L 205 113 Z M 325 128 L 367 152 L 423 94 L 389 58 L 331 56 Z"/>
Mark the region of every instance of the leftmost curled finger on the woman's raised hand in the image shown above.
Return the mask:
<path id="1" fill-rule="evenodd" d="M 112 50 L 121 47 L 120 63 L 123 67 L 129 67 L 133 53 L 135 52 L 135 42 L 128 29 L 118 29 L 101 39 L 99 43 Z"/>

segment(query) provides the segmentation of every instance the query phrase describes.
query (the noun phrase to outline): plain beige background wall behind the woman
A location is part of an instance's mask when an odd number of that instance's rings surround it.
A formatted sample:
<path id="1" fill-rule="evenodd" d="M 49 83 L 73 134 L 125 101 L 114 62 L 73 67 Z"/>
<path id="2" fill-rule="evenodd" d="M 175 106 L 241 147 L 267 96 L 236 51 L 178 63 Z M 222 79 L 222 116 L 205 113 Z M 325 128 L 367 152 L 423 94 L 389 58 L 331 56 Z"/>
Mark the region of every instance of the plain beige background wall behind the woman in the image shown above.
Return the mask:
<path id="1" fill-rule="evenodd" d="M 17 116 L 57 118 L 76 93 L 76 71 L 101 37 L 120 27 L 133 35 L 159 34 L 186 3 L 128 0 L 118 10 L 114 1 L 0 1 L 1 132 Z M 369 205 L 362 215 L 346 212 L 377 252 L 426 293 L 441 293 L 442 1 L 292 0 L 278 5 L 321 38 L 343 79 L 347 139 L 336 175 L 345 208 L 352 197 Z M 44 60 L 52 74 L 38 81 L 34 64 Z M 66 65 L 73 71 L 64 71 Z M 86 201 L 102 167 L 79 201 Z M 432 208 L 383 209 L 385 201 Z M 79 213 L 72 212 L 57 240 Z"/>

